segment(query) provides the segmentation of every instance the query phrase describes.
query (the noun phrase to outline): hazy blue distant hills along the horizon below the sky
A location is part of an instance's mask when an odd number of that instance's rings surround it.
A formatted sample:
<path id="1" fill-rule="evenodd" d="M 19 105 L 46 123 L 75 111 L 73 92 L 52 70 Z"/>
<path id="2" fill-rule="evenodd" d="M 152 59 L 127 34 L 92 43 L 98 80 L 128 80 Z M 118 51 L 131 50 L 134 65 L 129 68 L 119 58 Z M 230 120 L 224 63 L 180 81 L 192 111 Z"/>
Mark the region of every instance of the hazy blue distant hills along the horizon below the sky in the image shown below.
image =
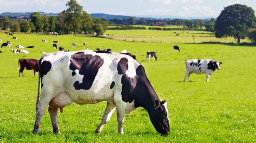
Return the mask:
<path id="1" fill-rule="evenodd" d="M 15 18 L 15 17 L 29 17 L 32 12 L 3 12 L 0 14 L 0 17 L 10 17 L 10 18 Z M 48 16 L 57 16 L 59 13 L 45 13 L 45 12 L 39 12 L 41 15 L 48 15 Z M 105 19 L 105 20 L 110 20 L 110 19 L 128 19 L 131 16 L 126 16 L 126 15 L 110 15 L 110 14 L 102 14 L 102 13 L 97 13 L 97 14 L 90 14 L 92 17 L 95 18 L 100 18 L 100 19 Z M 212 17 L 178 17 L 178 16 L 171 16 L 171 15 L 138 15 L 138 16 L 133 16 L 136 20 L 139 20 L 141 18 L 144 18 L 145 20 L 147 19 L 204 19 L 206 21 L 210 20 Z"/>

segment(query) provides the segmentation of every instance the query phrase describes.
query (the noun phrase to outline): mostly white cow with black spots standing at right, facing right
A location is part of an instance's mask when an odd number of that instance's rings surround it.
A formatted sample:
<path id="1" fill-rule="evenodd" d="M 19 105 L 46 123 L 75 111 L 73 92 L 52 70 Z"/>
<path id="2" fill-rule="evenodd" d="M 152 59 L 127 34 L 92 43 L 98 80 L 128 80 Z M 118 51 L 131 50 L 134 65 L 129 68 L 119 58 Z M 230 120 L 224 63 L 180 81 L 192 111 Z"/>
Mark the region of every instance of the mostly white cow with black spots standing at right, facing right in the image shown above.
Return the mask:
<path id="1" fill-rule="evenodd" d="M 220 70 L 220 64 L 222 64 L 219 61 L 214 61 L 211 59 L 202 59 L 202 60 L 187 60 L 185 62 L 186 64 L 186 74 L 184 78 L 184 82 L 186 80 L 186 77 L 189 76 L 190 81 L 190 74 L 202 74 L 206 73 L 206 82 L 209 82 L 210 75 L 213 75 L 213 72 L 217 69 Z"/>

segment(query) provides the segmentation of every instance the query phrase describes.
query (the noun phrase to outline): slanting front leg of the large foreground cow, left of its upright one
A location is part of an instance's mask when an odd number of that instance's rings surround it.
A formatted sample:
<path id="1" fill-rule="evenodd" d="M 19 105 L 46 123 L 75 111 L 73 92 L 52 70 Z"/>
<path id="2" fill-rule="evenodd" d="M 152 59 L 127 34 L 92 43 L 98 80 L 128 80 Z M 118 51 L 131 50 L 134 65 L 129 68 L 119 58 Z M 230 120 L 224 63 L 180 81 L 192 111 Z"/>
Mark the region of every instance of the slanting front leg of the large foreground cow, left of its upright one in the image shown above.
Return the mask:
<path id="1" fill-rule="evenodd" d="M 98 134 L 101 133 L 102 128 L 104 127 L 104 124 L 106 124 L 109 121 L 109 119 L 110 119 L 110 117 L 113 114 L 115 109 L 116 109 L 116 107 L 114 107 L 112 104 L 107 103 L 107 107 L 106 107 L 106 109 L 104 111 L 104 114 L 102 116 L 102 120 L 101 120 L 100 125 L 98 126 L 98 128 L 95 130 L 95 133 L 98 133 Z"/>

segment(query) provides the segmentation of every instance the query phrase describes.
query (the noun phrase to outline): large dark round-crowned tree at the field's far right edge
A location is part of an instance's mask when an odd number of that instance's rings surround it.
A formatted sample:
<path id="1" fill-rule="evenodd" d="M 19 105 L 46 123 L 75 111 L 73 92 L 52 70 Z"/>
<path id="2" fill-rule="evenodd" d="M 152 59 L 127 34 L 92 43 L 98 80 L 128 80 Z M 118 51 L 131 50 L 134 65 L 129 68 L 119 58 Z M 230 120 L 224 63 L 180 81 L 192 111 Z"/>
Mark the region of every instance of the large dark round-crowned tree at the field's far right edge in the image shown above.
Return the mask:
<path id="1" fill-rule="evenodd" d="M 215 22 L 215 37 L 232 36 L 240 43 L 245 39 L 249 28 L 256 27 L 254 10 L 242 4 L 234 4 L 225 7 Z"/>

